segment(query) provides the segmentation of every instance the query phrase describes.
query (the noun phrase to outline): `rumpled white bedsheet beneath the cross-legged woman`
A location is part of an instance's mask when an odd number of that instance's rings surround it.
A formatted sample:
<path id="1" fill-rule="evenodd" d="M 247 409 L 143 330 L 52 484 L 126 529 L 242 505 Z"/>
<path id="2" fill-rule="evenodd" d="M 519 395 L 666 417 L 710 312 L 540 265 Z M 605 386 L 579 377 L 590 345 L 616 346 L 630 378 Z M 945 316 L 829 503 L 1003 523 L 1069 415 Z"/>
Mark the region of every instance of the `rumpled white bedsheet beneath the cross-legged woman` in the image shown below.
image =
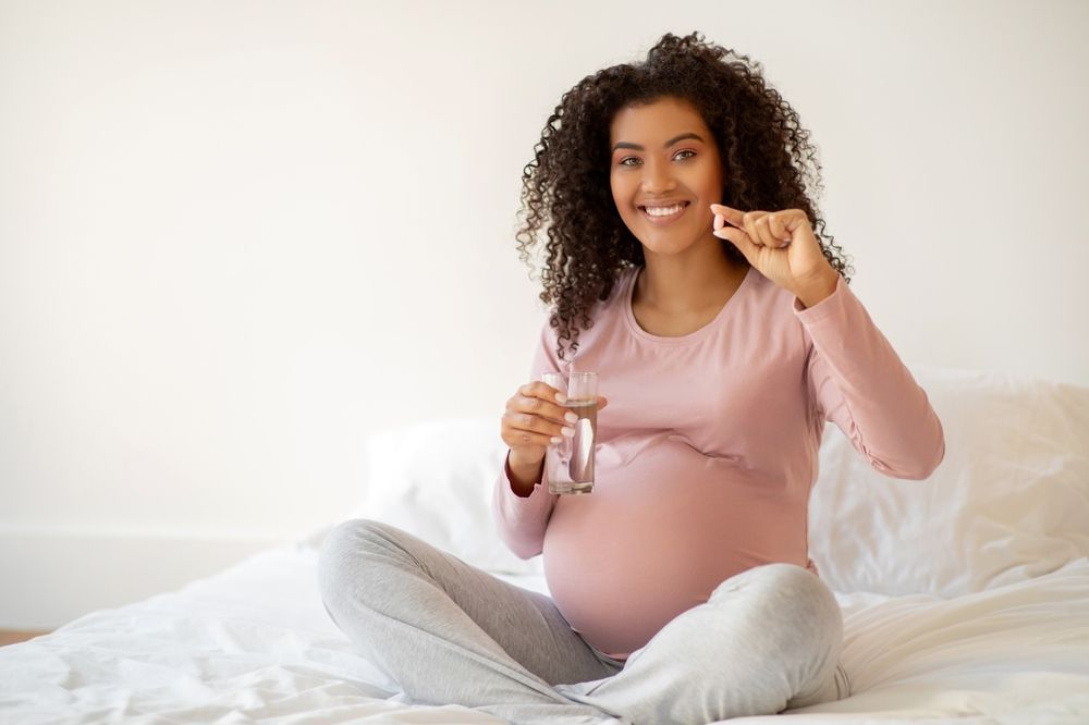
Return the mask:
<path id="1" fill-rule="evenodd" d="M 0 648 L 0 722 L 500 722 L 405 704 L 326 614 L 316 555 L 305 541 L 270 549 Z M 503 578 L 546 590 L 539 575 Z M 791 722 L 1089 723 L 1087 558 L 953 600 L 837 599 L 853 695 Z"/>

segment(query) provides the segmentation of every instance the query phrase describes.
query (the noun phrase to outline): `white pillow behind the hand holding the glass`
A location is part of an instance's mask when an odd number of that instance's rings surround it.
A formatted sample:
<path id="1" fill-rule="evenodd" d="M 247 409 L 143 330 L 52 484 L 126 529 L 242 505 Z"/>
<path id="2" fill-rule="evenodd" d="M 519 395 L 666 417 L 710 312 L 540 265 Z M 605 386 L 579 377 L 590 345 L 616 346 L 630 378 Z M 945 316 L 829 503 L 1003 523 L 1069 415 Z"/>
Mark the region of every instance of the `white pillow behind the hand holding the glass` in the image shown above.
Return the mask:
<path id="1" fill-rule="evenodd" d="M 495 530 L 491 496 L 506 444 L 499 418 L 435 420 L 368 437 L 367 492 L 350 515 L 392 524 L 478 568 L 543 573 Z"/>

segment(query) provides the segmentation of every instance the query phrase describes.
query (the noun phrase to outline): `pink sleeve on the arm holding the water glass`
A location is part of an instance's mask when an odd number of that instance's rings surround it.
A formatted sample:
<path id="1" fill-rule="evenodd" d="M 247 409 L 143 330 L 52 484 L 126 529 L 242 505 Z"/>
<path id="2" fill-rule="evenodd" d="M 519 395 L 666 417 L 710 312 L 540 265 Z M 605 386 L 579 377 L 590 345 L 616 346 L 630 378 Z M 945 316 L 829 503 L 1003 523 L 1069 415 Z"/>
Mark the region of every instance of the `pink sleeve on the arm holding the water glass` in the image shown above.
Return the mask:
<path id="1" fill-rule="evenodd" d="M 530 381 L 540 380 L 546 371 L 561 369 L 554 344 L 555 335 L 546 320 L 530 366 Z M 499 537 L 507 548 L 519 558 L 530 558 L 544 550 L 544 530 L 560 496 L 548 492 L 548 470 L 542 470 L 541 480 L 528 496 L 515 493 L 511 483 L 510 457 L 511 452 L 507 451 L 503 470 L 495 480 L 492 516 Z"/>

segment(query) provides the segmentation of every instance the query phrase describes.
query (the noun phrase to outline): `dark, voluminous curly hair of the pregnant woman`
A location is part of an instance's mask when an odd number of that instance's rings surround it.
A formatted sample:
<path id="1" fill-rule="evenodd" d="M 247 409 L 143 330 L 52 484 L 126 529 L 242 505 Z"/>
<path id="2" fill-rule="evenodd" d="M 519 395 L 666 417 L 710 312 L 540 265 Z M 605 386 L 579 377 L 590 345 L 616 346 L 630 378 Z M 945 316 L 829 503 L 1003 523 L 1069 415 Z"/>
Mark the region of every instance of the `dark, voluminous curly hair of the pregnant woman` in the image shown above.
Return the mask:
<path id="1" fill-rule="evenodd" d="M 529 262 L 546 229 L 540 299 L 553 305 L 549 323 L 559 328 L 556 354 L 564 343 L 578 349 L 578 325 L 594 321 L 589 309 L 609 298 L 620 273 L 644 263 L 643 245 L 624 224 L 609 182 L 609 132 L 613 116 L 627 106 L 663 97 L 690 102 L 714 136 L 723 163 L 722 199 L 739 209 L 802 209 L 812 221 L 824 257 L 851 282 L 854 270 L 807 188 L 822 186 L 817 149 L 798 114 L 763 79 L 763 66 L 746 56 L 666 33 L 635 64 L 613 65 L 586 76 L 563 94 L 522 174 L 524 221 L 515 238 L 519 258 Z M 726 255 L 747 265 L 729 241 Z M 533 267 L 530 266 L 530 269 Z M 533 279 L 533 272 L 530 272 Z"/>

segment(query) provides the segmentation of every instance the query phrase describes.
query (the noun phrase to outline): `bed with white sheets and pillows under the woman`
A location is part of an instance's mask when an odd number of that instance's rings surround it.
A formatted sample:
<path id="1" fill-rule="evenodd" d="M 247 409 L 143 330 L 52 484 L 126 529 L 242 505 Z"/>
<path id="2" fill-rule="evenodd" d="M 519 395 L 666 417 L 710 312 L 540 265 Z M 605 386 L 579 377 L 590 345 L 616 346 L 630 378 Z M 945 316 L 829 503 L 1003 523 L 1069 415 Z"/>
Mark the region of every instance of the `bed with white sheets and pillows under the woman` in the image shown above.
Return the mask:
<path id="1" fill-rule="evenodd" d="M 844 613 L 852 695 L 786 714 L 1089 723 L 1089 389 L 913 372 L 945 428 L 929 479 L 885 478 L 825 430 L 809 538 Z M 367 481 L 342 518 L 394 524 L 548 591 L 540 557 L 511 554 L 490 521 L 505 454 L 497 420 L 429 421 L 366 444 Z M 0 648 L 0 722 L 501 722 L 413 703 L 353 651 L 317 592 L 318 550 L 337 523 Z M 770 717 L 732 722 L 756 721 Z"/>

